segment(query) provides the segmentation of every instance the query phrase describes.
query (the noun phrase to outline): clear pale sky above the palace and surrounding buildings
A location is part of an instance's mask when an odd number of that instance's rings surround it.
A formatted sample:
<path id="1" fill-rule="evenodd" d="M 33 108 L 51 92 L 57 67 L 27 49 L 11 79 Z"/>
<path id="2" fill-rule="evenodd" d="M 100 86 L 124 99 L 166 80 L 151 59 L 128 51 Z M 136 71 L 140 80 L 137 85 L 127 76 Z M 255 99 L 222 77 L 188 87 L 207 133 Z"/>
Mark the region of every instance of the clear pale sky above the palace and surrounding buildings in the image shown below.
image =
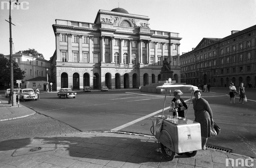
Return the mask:
<path id="1" fill-rule="evenodd" d="M 0 0 L 0 53 L 10 54 L 9 5 Z M 16 0 L 14 0 L 15 2 Z M 13 0 L 11 1 L 13 2 Z M 50 60 L 55 19 L 94 23 L 97 12 L 124 8 L 148 16 L 151 30 L 179 33 L 180 55 L 203 38 L 224 38 L 256 24 L 256 0 L 19 0 L 11 9 L 13 53 L 35 49 Z M 14 5 L 15 6 L 15 5 Z"/>

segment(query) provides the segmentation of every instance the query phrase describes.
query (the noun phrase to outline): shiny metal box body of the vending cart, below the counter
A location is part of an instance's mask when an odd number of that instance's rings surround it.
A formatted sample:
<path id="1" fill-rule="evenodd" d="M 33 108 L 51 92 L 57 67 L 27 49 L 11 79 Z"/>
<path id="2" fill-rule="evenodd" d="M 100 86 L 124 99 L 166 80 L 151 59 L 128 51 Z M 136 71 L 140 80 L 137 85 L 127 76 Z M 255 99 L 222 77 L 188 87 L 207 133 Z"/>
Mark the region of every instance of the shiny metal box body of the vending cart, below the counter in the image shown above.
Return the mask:
<path id="1" fill-rule="evenodd" d="M 160 120 L 161 117 L 157 117 L 156 122 Z M 162 129 L 156 132 L 155 137 L 175 153 L 202 149 L 200 124 L 189 119 L 177 122 L 163 119 Z"/>

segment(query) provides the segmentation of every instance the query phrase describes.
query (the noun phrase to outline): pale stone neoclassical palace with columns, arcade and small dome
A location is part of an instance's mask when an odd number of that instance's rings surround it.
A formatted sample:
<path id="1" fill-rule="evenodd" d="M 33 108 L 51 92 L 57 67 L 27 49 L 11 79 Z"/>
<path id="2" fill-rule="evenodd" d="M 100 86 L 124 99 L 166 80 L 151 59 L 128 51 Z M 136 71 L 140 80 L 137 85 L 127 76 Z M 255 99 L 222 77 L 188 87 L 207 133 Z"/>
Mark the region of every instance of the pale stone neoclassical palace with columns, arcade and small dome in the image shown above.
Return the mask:
<path id="1" fill-rule="evenodd" d="M 148 16 L 99 10 L 94 23 L 56 19 L 56 88 L 139 88 L 158 83 L 164 58 L 180 82 L 179 33 L 151 30 Z"/>

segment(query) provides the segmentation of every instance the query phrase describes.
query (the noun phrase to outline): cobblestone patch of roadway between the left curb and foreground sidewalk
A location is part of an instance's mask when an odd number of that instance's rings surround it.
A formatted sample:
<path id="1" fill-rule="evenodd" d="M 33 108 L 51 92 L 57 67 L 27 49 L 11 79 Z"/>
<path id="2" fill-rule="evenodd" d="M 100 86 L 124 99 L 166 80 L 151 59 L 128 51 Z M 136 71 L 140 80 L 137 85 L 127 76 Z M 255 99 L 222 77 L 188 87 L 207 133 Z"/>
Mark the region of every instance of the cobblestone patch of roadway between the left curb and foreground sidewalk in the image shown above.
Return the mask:
<path id="1" fill-rule="evenodd" d="M 0 141 L 74 132 L 79 132 L 79 130 L 38 113 L 25 118 L 0 122 Z"/>

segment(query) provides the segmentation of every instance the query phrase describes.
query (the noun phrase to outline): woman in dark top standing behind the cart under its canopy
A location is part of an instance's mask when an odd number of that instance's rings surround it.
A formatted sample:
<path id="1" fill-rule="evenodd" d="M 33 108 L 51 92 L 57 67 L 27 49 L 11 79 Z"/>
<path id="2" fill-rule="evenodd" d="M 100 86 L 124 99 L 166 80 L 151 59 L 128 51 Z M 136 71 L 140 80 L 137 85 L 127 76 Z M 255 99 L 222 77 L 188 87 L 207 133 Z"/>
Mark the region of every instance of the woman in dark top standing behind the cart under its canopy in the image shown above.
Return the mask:
<path id="1" fill-rule="evenodd" d="M 173 96 L 174 98 L 172 99 L 172 102 L 178 102 L 178 116 L 180 117 L 185 117 L 184 115 L 184 110 L 188 109 L 187 104 L 185 103 L 185 101 L 183 99 L 181 99 L 181 95 L 183 95 L 181 90 L 174 90 L 173 91 Z M 175 116 L 175 111 L 172 113 L 173 116 Z"/>

